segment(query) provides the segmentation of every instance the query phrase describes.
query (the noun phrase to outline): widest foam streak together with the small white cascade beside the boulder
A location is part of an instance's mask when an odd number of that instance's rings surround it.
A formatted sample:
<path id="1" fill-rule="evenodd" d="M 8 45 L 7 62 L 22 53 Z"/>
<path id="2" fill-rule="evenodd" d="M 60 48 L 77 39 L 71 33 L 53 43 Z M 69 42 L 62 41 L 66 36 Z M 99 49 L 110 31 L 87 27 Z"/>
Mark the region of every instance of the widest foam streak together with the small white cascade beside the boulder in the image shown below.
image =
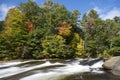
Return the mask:
<path id="1" fill-rule="evenodd" d="M 79 65 L 79 61 L 75 63 L 66 64 L 64 67 L 50 69 L 48 72 L 39 72 L 30 76 L 21 78 L 20 80 L 60 80 L 66 76 L 77 73 L 90 72 L 91 68 L 102 68 L 103 61 L 99 61 L 92 66 Z M 103 71 L 93 70 L 95 73 L 103 73 Z"/>

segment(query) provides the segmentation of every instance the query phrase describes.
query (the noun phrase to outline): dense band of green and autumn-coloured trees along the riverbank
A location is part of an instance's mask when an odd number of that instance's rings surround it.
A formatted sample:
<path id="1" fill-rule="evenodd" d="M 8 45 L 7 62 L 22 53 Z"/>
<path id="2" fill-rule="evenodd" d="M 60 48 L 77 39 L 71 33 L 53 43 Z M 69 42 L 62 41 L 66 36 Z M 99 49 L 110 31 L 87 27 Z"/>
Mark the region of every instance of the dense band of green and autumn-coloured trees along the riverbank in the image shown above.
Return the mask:
<path id="1" fill-rule="evenodd" d="M 82 18 L 79 18 L 82 17 Z M 11 8 L 0 21 L 0 59 L 110 57 L 120 55 L 120 17 L 102 20 L 97 11 L 48 0 Z"/>

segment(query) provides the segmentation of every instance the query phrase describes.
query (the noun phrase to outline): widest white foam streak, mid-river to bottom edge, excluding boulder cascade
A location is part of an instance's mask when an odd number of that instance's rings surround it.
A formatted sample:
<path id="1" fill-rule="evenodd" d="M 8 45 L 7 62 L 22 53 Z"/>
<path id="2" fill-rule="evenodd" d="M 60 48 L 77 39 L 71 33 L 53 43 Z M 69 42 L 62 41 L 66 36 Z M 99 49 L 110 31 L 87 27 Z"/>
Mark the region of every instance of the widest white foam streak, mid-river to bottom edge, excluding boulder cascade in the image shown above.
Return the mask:
<path id="1" fill-rule="evenodd" d="M 89 66 L 68 65 L 66 67 L 50 70 L 49 72 L 46 72 L 46 73 L 40 72 L 37 74 L 33 74 L 30 76 L 24 77 L 20 80 L 60 80 L 68 75 L 72 75 L 80 72 L 88 72 L 88 71 L 90 71 Z"/>

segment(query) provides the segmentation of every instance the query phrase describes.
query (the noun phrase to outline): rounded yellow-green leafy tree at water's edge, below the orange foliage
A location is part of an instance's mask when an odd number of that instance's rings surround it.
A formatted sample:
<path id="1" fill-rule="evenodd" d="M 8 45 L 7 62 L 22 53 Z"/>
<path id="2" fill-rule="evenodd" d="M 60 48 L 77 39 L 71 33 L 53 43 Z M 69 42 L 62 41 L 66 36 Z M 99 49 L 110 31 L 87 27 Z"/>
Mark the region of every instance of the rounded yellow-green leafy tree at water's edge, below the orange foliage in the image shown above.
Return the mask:
<path id="1" fill-rule="evenodd" d="M 41 55 L 46 58 L 70 58 L 72 50 L 65 45 L 65 40 L 59 35 L 46 36 L 42 41 L 43 51 Z"/>

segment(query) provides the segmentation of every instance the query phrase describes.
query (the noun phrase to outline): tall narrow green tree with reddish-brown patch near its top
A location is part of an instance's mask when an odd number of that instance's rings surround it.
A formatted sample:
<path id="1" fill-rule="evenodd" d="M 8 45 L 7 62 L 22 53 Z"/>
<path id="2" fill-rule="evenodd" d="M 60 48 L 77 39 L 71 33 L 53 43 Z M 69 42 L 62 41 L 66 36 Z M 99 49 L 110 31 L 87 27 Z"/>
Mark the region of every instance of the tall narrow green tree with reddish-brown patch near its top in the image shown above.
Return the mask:
<path id="1" fill-rule="evenodd" d="M 96 56 L 96 41 L 94 39 L 96 30 L 96 20 L 98 20 L 98 14 L 95 10 L 90 10 L 89 13 L 85 13 L 81 20 L 84 32 L 84 49 L 88 56 Z"/>

